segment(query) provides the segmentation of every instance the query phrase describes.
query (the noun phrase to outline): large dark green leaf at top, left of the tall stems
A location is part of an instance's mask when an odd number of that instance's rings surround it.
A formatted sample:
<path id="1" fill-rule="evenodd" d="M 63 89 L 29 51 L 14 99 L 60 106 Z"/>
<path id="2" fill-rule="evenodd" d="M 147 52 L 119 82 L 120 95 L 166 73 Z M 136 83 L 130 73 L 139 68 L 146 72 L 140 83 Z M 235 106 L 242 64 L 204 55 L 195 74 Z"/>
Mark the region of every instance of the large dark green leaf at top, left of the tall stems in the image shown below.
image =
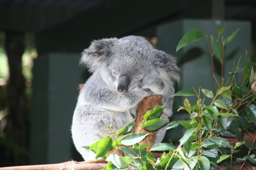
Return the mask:
<path id="1" fill-rule="evenodd" d="M 176 52 L 178 52 L 184 46 L 187 46 L 189 44 L 192 44 L 193 42 L 200 40 L 201 37 L 203 36 L 204 34 L 199 29 L 192 29 L 191 31 L 188 31 L 181 38 L 179 44 L 177 45 Z"/>

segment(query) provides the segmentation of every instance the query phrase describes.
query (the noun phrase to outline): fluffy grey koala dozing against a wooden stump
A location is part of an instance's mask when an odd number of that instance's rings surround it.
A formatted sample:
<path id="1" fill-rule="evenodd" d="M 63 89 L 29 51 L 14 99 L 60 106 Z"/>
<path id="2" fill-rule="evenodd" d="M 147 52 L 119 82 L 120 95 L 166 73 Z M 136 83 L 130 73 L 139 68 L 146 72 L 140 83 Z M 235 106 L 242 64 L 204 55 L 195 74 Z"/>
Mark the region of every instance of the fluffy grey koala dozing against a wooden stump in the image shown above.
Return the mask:
<path id="1" fill-rule="evenodd" d="M 95 158 L 82 146 L 91 145 L 109 135 L 104 128 L 123 128 L 136 116 L 143 97 L 162 95 L 161 118 L 172 115 L 174 84 L 179 82 L 179 69 L 174 57 L 156 50 L 142 37 L 94 40 L 82 53 L 92 73 L 78 97 L 72 122 L 72 138 L 85 160 Z M 156 134 L 162 141 L 166 128 Z"/>

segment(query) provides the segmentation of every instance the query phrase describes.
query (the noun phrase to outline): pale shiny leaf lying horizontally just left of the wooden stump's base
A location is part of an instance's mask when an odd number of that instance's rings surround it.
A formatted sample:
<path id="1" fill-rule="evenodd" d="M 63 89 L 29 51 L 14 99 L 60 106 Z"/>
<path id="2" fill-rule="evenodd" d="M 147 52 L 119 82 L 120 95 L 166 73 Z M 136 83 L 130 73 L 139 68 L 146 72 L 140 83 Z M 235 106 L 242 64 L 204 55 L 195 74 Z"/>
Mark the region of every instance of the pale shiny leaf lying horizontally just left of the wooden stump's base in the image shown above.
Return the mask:
<path id="1" fill-rule="evenodd" d="M 122 139 L 121 143 L 126 146 L 134 145 L 141 142 L 147 135 L 148 133 L 130 133 Z"/>

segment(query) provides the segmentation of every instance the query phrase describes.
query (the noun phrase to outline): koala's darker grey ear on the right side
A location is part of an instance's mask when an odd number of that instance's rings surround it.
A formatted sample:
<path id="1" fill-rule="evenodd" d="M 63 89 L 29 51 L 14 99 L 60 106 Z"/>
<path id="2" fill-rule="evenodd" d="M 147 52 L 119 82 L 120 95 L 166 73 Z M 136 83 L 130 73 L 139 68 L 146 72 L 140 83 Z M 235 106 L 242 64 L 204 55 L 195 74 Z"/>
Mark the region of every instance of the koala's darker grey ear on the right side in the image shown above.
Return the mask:
<path id="1" fill-rule="evenodd" d="M 168 78 L 172 82 L 180 83 L 179 67 L 177 67 L 176 59 L 170 54 L 155 50 L 153 65 L 159 71 L 160 76 Z"/>

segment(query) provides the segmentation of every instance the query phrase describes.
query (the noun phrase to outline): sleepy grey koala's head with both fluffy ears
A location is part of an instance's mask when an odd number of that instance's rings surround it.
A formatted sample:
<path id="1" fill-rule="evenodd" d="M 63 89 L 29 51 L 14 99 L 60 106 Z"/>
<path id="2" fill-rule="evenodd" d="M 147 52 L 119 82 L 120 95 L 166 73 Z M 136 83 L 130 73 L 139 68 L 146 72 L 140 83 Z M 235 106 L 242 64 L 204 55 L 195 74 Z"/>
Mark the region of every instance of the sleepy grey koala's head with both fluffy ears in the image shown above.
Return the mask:
<path id="1" fill-rule="evenodd" d="M 179 79 L 175 59 L 138 36 L 95 40 L 82 53 L 81 62 L 90 72 L 100 71 L 106 84 L 122 93 L 139 87 L 152 74 L 172 82 Z"/>

